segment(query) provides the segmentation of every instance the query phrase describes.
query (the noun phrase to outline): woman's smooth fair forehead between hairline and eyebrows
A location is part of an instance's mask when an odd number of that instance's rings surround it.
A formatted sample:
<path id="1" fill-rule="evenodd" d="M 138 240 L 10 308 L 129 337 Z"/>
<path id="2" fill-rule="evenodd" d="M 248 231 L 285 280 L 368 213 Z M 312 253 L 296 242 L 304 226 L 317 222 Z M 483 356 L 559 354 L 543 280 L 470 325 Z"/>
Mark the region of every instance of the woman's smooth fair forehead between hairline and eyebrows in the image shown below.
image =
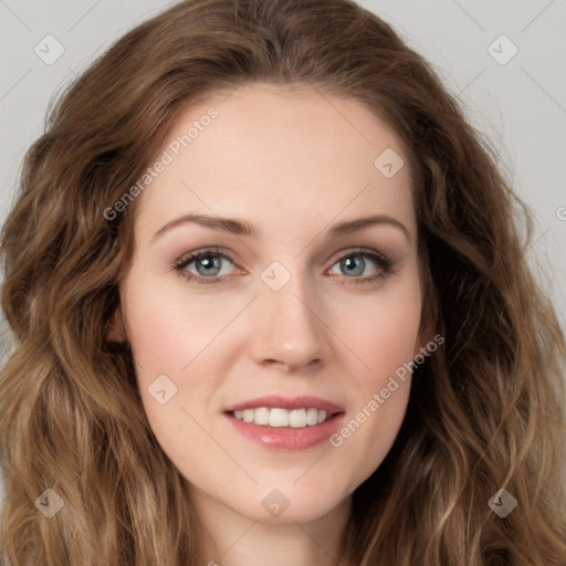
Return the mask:
<path id="1" fill-rule="evenodd" d="M 159 160 L 138 197 L 144 232 L 182 212 L 265 226 L 368 212 L 416 222 L 400 137 L 360 102 L 308 85 L 254 83 L 191 104 Z"/>

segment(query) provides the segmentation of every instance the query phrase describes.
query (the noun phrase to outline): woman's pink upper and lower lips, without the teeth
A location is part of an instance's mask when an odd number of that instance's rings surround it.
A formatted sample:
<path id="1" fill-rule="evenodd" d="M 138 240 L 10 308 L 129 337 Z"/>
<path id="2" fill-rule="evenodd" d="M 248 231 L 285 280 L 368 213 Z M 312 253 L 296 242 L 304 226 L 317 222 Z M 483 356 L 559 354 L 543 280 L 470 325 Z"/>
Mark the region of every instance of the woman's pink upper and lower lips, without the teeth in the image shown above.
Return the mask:
<path id="1" fill-rule="evenodd" d="M 325 410 L 333 415 L 333 417 L 321 424 L 295 429 L 292 427 L 269 427 L 264 424 L 255 424 L 255 422 L 244 422 L 233 416 L 233 411 L 256 409 L 258 407 L 266 407 L 270 409 L 281 408 L 287 410 L 314 408 Z M 268 396 L 228 407 L 224 410 L 223 416 L 242 437 L 264 449 L 275 451 L 297 451 L 307 450 L 328 440 L 328 438 L 340 427 L 345 417 L 345 410 L 338 405 L 319 397 L 291 398 Z"/>

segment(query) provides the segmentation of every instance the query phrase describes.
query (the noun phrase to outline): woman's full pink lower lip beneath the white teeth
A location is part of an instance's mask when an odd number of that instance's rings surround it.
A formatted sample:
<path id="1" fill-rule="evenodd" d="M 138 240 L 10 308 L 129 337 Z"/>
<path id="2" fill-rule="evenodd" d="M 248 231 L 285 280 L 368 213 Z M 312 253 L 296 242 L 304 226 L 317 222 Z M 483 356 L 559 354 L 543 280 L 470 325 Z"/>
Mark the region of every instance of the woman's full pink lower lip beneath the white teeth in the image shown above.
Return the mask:
<path id="1" fill-rule="evenodd" d="M 327 440 L 338 429 L 344 413 L 335 415 L 321 424 L 306 426 L 301 429 L 292 427 L 268 427 L 238 420 L 232 415 L 224 415 L 232 427 L 243 437 L 263 448 L 272 450 L 306 450 Z"/>

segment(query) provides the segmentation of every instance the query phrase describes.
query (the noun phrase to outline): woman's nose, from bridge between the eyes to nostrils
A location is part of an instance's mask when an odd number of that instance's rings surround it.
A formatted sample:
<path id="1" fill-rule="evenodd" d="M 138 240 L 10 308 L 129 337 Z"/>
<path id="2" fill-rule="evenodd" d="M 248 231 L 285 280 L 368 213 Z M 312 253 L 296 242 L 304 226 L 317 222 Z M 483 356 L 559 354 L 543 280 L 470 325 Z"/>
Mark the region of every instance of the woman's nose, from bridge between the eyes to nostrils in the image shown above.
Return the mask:
<path id="1" fill-rule="evenodd" d="M 292 373 L 328 363 L 332 333 L 321 301 L 293 276 L 273 291 L 261 282 L 254 301 L 252 355 L 260 365 L 276 365 Z"/>

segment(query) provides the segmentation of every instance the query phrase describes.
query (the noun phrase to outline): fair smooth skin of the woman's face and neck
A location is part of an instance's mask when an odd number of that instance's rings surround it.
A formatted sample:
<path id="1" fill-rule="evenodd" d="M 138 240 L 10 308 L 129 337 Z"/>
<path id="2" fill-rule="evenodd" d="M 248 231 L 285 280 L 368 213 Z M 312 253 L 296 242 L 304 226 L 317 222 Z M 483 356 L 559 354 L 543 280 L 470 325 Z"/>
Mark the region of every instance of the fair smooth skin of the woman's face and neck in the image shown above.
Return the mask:
<path id="1" fill-rule="evenodd" d="M 266 446 L 226 411 L 258 397 L 313 396 L 342 409 L 333 417 L 339 432 L 421 352 L 408 158 L 395 132 L 360 103 L 307 86 L 249 84 L 210 96 L 179 116 L 169 139 L 210 106 L 218 117 L 137 197 L 134 262 L 109 338 L 132 346 L 151 429 L 189 482 L 222 565 L 334 564 L 350 494 L 399 431 L 410 375 L 340 446 L 328 438 L 300 449 Z M 386 148 L 406 164 L 390 178 L 374 166 Z M 258 235 L 195 222 L 155 235 L 185 213 L 244 220 Z M 382 222 L 327 234 L 373 214 L 405 230 Z M 230 260 L 213 255 L 182 270 L 213 283 L 171 269 L 211 247 Z M 356 252 L 361 247 L 394 260 L 395 271 Z M 271 281 L 286 282 L 274 291 Z M 160 375 L 168 379 L 161 391 L 177 387 L 163 405 L 148 391 Z M 307 429 L 286 427 L 289 438 Z M 273 502 L 287 506 L 275 516 Z M 203 564 L 214 557 L 207 546 Z"/>

